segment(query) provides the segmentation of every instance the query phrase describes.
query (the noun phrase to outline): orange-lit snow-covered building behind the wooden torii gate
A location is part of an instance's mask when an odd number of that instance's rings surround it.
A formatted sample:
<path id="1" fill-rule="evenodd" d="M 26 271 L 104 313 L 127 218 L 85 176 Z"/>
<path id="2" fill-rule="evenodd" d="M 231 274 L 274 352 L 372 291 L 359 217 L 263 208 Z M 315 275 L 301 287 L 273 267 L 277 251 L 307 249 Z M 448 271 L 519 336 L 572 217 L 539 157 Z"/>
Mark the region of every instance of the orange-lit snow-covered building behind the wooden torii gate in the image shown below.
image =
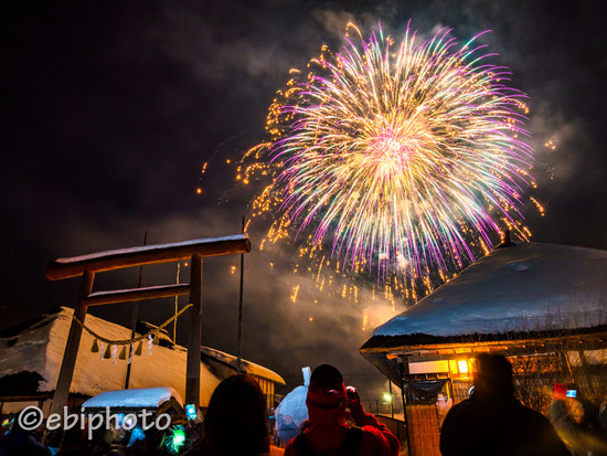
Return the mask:
<path id="1" fill-rule="evenodd" d="M 19 410 L 24 402 L 38 402 L 49 410 L 55 390 L 63 352 L 72 324 L 73 309 L 61 307 L 33 320 L 7 329 L 0 335 L 0 405 L 3 411 Z M 111 340 L 129 339 L 130 329 L 88 315 L 86 326 Z M 147 329 L 147 328 L 145 328 Z M 84 331 L 78 349 L 68 405 L 81 404 L 87 397 L 125 386 L 127 360 L 104 359 L 104 350 L 92 352 L 94 337 Z M 168 386 L 179 395 L 185 392 L 187 349 L 172 343 L 143 343 L 141 356 L 132 357 L 130 388 Z M 213 349 L 201 352 L 201 406 L 206 406 L 215 386 L 234 373 L 217 369 L 207 359 Z M 219 352 L 222 353 L 222 352 Z M 223 353 L 225 354 L 225 353 Z M 227 354 L 226 354 L 227 356 Z M 227 356 L 228 357 L 228 356 Z M 245 361 L 245 371 L 257 379 L 285 384 L 277 373 Z M 271 388 L 274 394 L 274 388 Z M 0 413 L 2 410 L 0 409 Z"/>

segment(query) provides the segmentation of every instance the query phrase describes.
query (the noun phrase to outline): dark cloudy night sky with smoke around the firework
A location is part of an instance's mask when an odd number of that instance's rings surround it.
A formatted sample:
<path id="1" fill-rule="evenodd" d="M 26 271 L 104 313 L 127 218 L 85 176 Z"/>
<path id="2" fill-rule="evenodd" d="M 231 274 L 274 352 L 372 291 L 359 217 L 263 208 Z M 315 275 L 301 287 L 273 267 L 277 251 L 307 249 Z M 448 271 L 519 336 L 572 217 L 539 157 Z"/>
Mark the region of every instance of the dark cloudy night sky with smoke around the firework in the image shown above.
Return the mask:
<path id="1" fill-rule="evenodd" d="M 363 33 L 381 21 L 396 38 L 408 19 L 426 34 L 450 26 L 460 41 L 492 30 L 483 42 L 530 96 L 539 188 L 529 195 L 546 208 L 544 218 L 532 203 L 523 209 L 533 240 L 607 248 L 607 39 L 599 4 L 14 2 L 2 14 L 9 35 L 0 329 L 73 305 L 77 279 L 45 280 L 51 259 L 138 245 L 146 231 L 149 243 L 239 232 L 255 188 L 236 185 L 225 161 L 265 138 L 267 107 L 288 70 L 305 67 L 323 43 L 338 50 L 349 21 Z M 544 147 L 549 140 L 555 150 Z M 358 348 L 394 311 L 372 309 L 373 325 L 363 331 L 363 304 L 312 306 L 306 293 L 294 304 L 294 284 L 305 288 L 307 279 L 294 278 L 294 252 L 259 252 L 262 235 L 249 233 L 254 251 L 245 258 L 245 358 L 276 370 L 291 388 L 301 367 L 332 362 L 347 382 L 379 391 L 382 375 Z M 238 277 L 231 267 L 237 264 L 224 257 L 204 265 L 203 343 L 233 353 Z M 143 285 L 174 278 L 174 265 L 143 269 Z M 110 273 L 95 289 L 136 283 L 136 271 Z M 172 306 L 146 301 L 141 317 L 160 324 Z M 130 305 L 93 314 L 127 324 Z"/>

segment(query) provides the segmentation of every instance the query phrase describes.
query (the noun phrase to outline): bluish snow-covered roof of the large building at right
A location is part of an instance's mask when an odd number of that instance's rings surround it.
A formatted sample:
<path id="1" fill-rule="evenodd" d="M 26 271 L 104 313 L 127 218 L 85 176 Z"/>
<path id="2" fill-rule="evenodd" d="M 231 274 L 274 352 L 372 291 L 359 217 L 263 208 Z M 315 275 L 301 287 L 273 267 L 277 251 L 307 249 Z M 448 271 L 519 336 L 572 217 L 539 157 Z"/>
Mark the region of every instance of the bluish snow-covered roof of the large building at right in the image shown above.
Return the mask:
<path id="1" fill-rule="evenodd" d="M 473 263 L 375 328 L 363 349 L 413 335 L 455 337 L 600 325 L 607 325 L 607 251 L 524 243 L 494 250 Z"/>

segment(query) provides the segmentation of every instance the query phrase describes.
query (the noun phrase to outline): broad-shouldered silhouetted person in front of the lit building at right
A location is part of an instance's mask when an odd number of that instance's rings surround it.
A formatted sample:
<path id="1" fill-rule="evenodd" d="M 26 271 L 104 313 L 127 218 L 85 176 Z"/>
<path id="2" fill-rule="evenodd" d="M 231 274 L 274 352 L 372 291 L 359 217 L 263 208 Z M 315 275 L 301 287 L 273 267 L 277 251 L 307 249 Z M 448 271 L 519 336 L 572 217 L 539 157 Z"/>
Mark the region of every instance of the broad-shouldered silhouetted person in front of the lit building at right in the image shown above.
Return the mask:
<path id="1" fill-rule="evenodd" d="M 443 423 L 444 456 L 569 455 L 550 421 L 514 397 L 512 364 L 500 354 L 479 354 L 475 389 Z"/>

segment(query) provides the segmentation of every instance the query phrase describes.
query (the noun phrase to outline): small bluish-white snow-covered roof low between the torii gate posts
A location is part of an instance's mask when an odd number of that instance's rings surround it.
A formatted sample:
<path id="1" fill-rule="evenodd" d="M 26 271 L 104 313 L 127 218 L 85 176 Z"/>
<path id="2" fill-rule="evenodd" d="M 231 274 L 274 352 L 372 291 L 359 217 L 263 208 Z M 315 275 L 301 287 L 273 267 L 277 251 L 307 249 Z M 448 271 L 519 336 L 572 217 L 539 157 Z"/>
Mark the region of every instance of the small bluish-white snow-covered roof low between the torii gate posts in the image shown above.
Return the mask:
<path id="1" fill-rule="evenodd" d="M 106 391 L 90 397 L 83 407 L 159 407 L 164 402 L 174 397 L 180 405 L 183 401 L 179 393 L 172 388 L 138 388 L 129 390 Z"/>

